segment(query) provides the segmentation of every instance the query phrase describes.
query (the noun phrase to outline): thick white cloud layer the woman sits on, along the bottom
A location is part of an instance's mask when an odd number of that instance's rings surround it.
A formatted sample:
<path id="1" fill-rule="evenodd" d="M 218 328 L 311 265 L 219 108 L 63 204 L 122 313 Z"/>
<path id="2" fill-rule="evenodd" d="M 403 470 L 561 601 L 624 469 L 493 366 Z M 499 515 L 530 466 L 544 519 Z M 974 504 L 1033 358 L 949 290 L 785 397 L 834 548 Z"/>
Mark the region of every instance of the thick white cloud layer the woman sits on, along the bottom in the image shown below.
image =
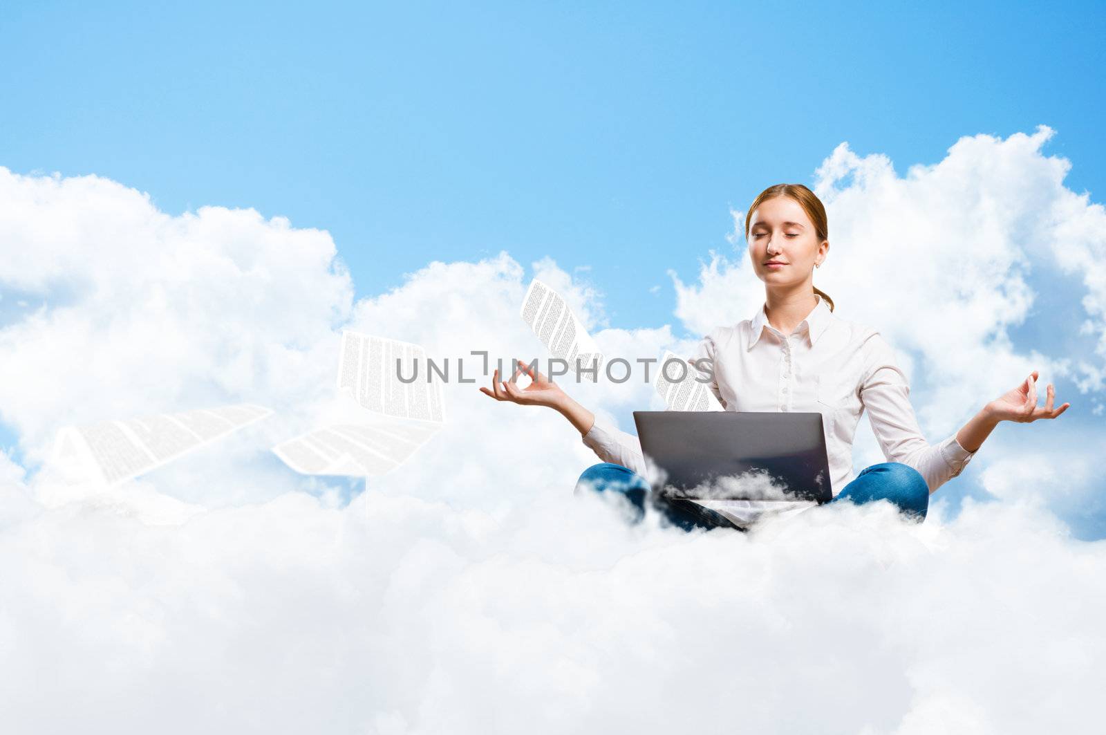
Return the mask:
<path id="1" fill-rule="evenodd" d="M 1019 733 L 1097 716 L 1106 546 L 1047 515 L 970 505 L 905 526 L 886 507 L 824 508 L 751 537 L 684 536 L 549 489 L 498 518 L 375 493 L 180 526 L 122 499 L 42 511 L 0 536 L 20 590 L 0 618 L 6 718 Z"/>

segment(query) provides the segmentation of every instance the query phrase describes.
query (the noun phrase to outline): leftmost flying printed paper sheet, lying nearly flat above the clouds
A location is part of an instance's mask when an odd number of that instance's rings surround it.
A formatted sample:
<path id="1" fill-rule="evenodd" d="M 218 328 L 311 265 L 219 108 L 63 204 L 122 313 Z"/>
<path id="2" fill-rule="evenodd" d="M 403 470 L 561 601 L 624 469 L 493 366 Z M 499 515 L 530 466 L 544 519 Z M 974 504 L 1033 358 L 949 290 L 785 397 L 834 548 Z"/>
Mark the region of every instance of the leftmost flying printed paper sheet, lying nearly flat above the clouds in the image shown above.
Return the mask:
<path id="1" fill-rule="evenodd" d="M 54 459 L 74 478 L 122 483 L 271 414 L 262 406 L 237 404 L 65 426 L 58 432 Z"/>

